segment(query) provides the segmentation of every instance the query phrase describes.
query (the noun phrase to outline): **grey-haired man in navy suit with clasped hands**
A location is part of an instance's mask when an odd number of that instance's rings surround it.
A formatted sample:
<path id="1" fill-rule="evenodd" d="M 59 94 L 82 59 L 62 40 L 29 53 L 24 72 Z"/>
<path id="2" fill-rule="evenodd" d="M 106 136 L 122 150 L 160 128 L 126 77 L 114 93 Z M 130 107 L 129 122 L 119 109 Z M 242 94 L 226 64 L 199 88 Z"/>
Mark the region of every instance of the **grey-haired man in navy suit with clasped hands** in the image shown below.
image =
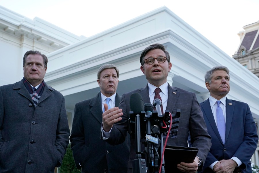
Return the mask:
<path id="1" fill-rule="evenodd" d="M 212 146 L 203 172 L 252 172 L 250 159 L 256 150 L 258 136 L 249 106 L 226 98 L 230 90 L 227 67 L 214 67 L 207 71 L 204 78 L 210 97 L 200 105 L 212 137 Z M 217 109 L 223 113 L 221 127 Z"/>

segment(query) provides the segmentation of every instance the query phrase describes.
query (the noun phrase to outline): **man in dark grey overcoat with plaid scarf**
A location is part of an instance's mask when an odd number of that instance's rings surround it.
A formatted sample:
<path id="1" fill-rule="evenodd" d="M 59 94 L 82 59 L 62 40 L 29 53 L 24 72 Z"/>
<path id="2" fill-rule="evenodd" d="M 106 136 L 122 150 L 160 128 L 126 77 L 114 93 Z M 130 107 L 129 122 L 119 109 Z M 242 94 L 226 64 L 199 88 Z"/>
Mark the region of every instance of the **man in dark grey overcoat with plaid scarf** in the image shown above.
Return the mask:
<path id="1" fill-rule="evenodd" d="M 0 87 L 0 172 L 53 173 L 70 135 L 64 96 L 43 78 L 47 57 L 27 51 L 24 78 Z"/>

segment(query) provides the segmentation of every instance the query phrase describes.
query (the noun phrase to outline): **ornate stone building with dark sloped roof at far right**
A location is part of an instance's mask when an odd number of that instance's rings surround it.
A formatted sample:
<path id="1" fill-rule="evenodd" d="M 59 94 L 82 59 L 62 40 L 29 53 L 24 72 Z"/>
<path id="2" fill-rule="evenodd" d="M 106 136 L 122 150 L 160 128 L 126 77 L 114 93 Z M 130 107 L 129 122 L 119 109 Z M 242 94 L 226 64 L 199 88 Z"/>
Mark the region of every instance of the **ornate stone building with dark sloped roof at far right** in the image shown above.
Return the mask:
<path id="1" fill-rule="evenodd" d="M 240 45 L 233 58 L 259 77 L 259 20 L 238 33 Z"/>

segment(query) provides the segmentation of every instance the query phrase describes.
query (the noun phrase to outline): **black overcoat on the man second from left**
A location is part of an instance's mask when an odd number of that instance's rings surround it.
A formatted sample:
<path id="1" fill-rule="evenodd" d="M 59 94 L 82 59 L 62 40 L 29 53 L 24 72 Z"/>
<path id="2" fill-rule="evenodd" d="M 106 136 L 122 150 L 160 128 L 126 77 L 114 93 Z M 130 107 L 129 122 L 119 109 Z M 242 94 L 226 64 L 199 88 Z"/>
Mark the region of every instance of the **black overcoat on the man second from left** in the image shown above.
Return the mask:
<path id="1" fill-rule="evenodd" d="M 101 93 L 75 105 L 75 116 L 70 136 L 71 149 L 78 169 L 83 173 L 127 172 L 129 139 L 112 146 L 100 139 L 102 124 Z M 121 97 L 116 93 L 115 106 Z M 129 136 L 129 135 L 128 135 Z M 82 166 L 79 166 L 81 163 Z"/>

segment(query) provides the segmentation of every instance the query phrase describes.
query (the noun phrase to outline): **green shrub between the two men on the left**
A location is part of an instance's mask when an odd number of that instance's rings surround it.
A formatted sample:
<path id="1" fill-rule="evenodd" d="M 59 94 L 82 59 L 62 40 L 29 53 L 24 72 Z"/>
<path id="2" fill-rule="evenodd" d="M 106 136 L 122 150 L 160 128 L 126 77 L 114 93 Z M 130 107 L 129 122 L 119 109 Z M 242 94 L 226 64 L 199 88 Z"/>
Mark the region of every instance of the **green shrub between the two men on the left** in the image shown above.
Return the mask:
<path id="1" fill-rule="evenodd" d="M 70 144 L 66 148 L 66 154 L 64 155 L 62 165 L 58 168 L 58 173 L 80 173 L 81 170 L 75 166 L 75 161 L 72 155 Z"/>

